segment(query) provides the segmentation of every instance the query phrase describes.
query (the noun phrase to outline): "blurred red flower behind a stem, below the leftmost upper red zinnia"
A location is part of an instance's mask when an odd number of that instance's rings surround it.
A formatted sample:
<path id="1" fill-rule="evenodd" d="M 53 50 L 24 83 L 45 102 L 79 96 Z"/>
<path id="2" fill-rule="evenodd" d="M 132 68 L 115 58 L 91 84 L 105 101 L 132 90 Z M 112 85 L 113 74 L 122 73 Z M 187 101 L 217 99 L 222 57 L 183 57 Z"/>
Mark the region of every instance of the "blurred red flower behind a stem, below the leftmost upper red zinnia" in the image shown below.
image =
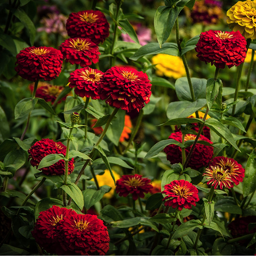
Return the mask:
<path id="1" fill-rule="evenodd" d="M 30 84 L 31 92 L 34 90 L 34 83 Z M 37 98 L 43 98 L 46 102 L 54 103 L 58 95 L 64 90 L 63 86 L 52 86 L 47 82 L 38 82 L 38 88 L 35 94 Z M 66 96 L 63 97 L 58 103 L 65 101 Z"/>

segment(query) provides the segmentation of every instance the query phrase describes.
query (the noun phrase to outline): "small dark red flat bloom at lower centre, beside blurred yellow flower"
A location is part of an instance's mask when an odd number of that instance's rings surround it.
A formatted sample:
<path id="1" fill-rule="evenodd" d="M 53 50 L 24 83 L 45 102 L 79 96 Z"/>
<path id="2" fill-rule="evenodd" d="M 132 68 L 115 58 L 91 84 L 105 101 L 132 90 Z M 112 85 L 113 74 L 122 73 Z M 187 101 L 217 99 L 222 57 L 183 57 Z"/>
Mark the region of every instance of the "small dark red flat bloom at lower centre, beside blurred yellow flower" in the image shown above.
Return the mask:
<path id="1" fill-rule="evenodd" d="M 149 178 L 142 178 L 142 175 L 138 174 L 122 175 L 116 185 L 116 192 L 121 197 L 127 197 L 131 194 L 134 200 L 144 198 L 144 193 L 149 193 L 153 188 Z"/>

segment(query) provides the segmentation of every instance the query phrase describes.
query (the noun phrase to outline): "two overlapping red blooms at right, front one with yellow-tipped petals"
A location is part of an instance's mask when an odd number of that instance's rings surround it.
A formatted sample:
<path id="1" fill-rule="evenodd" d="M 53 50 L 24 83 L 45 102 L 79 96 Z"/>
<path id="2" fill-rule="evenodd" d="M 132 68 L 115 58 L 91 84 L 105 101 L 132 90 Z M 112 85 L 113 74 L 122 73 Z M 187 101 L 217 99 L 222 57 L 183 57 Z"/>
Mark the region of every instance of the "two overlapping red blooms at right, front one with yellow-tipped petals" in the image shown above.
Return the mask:
<path id="1" fill-rule="evenodd" d="M 208 180 L 207 184 L 216 189 L 220 186 L 231 188 L 242 182 L 245 177 L 245 170 L 232 158 L 216 157 L 211 162 L 206 172 L 203 174 Z"/>

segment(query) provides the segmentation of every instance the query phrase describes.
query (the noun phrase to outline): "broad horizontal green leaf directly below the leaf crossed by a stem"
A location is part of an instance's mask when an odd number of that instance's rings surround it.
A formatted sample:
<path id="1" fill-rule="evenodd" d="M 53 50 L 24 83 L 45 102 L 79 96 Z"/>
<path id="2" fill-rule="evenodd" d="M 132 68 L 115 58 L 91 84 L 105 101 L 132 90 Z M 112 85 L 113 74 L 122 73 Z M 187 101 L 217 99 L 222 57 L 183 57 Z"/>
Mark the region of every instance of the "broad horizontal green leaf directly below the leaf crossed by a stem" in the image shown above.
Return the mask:
<path id="1" fill-rule="evenodd" d="M 193 114 L 195 111 L 202 109 L 206 105 L 206 99 L 198 98 L 195 102 L 170 102 L 166 115 L 169 119 L 175 118 L 187 118 L 190 114 Z"/>

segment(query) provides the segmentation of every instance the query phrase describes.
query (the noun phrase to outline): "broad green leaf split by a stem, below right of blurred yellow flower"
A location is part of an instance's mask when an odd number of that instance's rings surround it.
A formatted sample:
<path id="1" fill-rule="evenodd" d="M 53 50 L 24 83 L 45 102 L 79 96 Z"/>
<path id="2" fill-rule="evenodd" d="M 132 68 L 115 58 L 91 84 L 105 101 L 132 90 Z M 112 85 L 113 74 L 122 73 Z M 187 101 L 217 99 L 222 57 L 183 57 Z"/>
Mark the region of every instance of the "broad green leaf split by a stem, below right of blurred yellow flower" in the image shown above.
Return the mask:
<path id="1" fill-rule="evenodd" d="M 194 89 L 195 99 L 206 98 L 207 80 L 202 78 L 191 78 L 191 82 Z M 185 100 L 192 102 L 190 86 L 187 82 L 187 78 L 178 78 L 175 82 L 175 90 L 180 101 Z"/>

